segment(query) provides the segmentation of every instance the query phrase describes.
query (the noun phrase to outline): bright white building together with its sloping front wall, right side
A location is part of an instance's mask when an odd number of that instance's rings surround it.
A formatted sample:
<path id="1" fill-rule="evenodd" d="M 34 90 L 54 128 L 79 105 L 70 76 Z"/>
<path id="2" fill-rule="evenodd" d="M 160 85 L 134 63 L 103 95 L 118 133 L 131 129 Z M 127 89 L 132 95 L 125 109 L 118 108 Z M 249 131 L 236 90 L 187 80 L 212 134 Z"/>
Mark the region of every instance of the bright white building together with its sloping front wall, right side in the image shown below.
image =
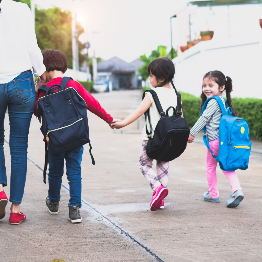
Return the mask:
<path id="1" fill-rule="evenodd" d="M 260 1 L 261 3 L 261 1 Z M 190 5 L 191 4 L 191 5 Z M 233 80 L 233 97 L 262 98 L 261 4 L 249 0 L 193 1 L 176 15 L 178 43 L 200 39 L 200 31 L 214 31 L 211 40 L 196 43 L 173 59 L 178 90 L 200 96 L 205 73 L 219 70 Z M 182 30 L 184 28 L 184 30 Z"/>

